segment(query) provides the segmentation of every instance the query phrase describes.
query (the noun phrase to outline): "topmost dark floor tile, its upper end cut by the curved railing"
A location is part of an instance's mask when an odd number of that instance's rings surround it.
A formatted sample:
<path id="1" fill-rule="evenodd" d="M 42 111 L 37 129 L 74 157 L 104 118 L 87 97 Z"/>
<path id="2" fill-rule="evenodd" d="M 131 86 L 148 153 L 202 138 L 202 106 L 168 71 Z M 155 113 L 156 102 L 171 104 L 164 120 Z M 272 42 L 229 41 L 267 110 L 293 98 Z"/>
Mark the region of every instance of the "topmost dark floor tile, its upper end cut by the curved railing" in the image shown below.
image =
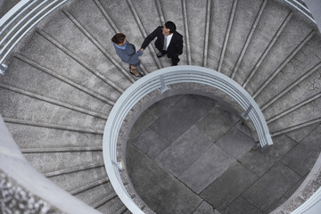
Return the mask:
<path id="1" fill-rule="evenodd" d="M 160 119 L 152 124 L 152 129 L 173 143 L 193 123 L 210 111 L 215 101 L 199 95 L 185 95 Z"/>

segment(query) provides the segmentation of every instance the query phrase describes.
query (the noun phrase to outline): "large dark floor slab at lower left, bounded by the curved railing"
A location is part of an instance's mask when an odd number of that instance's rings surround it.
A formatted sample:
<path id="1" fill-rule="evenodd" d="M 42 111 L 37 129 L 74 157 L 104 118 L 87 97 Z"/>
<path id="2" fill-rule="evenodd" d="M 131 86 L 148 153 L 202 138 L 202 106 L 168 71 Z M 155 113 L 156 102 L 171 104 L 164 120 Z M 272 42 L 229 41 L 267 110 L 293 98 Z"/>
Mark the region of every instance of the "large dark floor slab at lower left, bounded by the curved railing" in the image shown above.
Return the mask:
<path id="1" fill-rule="evenodd" d="M 197 194 L 131 144 L 128 144 L 127 167 L 136 192 L 156 213 L 193 213 L 202 202 Z"/>

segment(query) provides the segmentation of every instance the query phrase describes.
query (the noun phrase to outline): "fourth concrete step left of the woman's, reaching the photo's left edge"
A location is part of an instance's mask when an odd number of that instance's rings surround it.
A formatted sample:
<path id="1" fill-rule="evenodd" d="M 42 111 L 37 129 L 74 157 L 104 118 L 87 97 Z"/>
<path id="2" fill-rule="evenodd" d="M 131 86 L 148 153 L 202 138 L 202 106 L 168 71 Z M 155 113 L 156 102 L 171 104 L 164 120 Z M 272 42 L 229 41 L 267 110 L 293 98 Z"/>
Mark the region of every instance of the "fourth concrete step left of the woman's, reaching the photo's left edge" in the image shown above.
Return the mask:
<path id="1" fill-rule="evenodd" d="M 5 119 L 103 130 L 105 119 L 102 119 L 100 114 L 95 116 L 95 112 L 92 111 L 64 103 L 53 103 L 53 100 L 45 100 L 42 96 L 36 98 L 32 97 L 33 94 L 21 95 L 21 93 L 25 91 L 1 90 L 0 97 L 3 101 L 1 114 Z"/>

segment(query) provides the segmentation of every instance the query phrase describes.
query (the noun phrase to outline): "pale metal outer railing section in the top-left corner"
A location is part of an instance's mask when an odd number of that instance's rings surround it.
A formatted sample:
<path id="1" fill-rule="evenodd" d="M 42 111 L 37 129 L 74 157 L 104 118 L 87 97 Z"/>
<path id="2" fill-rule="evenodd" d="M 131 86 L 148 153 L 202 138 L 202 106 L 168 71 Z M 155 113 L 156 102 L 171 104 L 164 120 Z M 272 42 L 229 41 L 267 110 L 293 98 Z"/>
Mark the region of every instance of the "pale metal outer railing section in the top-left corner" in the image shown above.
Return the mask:
<path id="1" fill-rule="evenodd" d="M 68 0 L 21 0 L 0 19 L 0 73 L 7 65 L 5 58 L 39 21 Z"/>

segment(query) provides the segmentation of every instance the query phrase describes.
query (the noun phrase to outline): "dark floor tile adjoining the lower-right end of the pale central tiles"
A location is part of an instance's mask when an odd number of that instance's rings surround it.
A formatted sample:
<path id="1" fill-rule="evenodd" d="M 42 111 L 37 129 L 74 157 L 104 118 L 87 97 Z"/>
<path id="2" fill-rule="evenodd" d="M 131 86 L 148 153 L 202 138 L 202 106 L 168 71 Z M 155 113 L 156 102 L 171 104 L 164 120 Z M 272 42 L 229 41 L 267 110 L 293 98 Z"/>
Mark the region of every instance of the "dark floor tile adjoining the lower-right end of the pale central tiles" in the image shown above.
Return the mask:
<path id="1" fill-rule="evenodd" d="M 259 177 L 242 164 L 235 162 L 226 172 L 208 185 L 200 194 L 202 199 L 210 202 L 218 210 L 235 201 L 243 191 L 253 184 Z"/>

